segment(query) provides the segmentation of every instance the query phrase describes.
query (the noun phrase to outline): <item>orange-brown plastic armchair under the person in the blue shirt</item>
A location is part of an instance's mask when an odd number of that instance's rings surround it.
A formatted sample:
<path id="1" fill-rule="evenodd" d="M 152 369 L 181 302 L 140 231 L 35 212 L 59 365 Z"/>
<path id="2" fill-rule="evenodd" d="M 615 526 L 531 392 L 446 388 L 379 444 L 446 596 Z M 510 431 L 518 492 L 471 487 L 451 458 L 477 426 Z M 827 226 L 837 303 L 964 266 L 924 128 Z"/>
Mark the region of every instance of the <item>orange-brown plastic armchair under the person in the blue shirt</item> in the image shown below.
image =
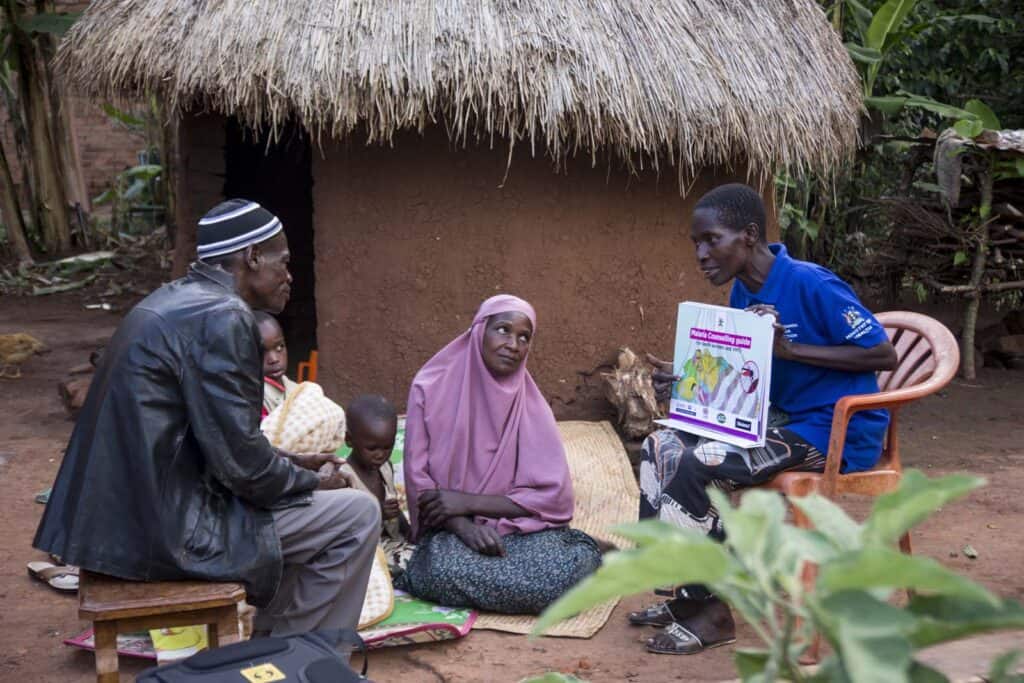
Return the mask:
<path id="1" fill-rule="evenodd" d="M 879 313 L 876 317 L 885 327 L 896 348 L 896 369 L 879 373 L 878 393 L 844 396 L 836 402 L 824 472 L 782 472 L 759 488 L 777 490 L 790 498 L 816 493 L 835 499 L 840 494 L 881 496 L 899 485 L 903 472 L 899 452 L 899 410 L 949 383 L 959 367 L 959 348 L 948 328 L 927 315 L 897 310 Z M 850 418 L 858 411 L 880 408 L 888 409 L 890 414 L 882 457 L 869 470 L 841 474 L 839 469 Z M 793 516 L 797 526 L 811 526 L 810 520 L 800 510 L 793 508 Z M 910 554 L 909 532 L 900 539 L 899 547 L 902 552 Z M 808 589 L 816 575 L 817 567 L 804 567 L 803 581 Z M 816 638 L 808 651 L 809 660 L 817 660 L 819 644 L 820 638 Z"/>

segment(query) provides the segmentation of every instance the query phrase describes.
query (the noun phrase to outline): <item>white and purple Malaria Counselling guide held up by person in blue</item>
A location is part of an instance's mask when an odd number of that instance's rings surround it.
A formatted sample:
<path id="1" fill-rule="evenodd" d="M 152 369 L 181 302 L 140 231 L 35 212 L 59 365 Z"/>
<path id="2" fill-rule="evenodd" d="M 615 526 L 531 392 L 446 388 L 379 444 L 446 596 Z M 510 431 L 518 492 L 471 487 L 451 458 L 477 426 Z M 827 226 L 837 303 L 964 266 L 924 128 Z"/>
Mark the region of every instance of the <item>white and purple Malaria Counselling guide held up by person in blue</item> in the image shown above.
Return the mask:
<path id="1" fill-rule="evenodd" d="M 771 315 L 684 301 L 676 322 L 669 419 L 675 429 L 742 447 L 764 445 Z"/>

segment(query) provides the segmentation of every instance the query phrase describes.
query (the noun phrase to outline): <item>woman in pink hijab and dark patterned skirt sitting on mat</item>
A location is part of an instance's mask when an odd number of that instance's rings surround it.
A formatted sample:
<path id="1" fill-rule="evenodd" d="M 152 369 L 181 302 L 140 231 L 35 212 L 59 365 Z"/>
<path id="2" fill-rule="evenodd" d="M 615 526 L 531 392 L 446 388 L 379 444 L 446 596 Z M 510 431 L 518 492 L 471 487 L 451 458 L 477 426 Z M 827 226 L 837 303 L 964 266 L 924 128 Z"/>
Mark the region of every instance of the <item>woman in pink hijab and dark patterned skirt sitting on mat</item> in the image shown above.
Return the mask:
<path id="1" fill-rule="evenodd" d="M 403 583 L 418 597 L 537 612 L 599 562 L 568 528 L 565 451 L 526 371 L 536 330 L 527 302 L 492 297 L 413 380 L 404 473 L 419 546 Z"/>

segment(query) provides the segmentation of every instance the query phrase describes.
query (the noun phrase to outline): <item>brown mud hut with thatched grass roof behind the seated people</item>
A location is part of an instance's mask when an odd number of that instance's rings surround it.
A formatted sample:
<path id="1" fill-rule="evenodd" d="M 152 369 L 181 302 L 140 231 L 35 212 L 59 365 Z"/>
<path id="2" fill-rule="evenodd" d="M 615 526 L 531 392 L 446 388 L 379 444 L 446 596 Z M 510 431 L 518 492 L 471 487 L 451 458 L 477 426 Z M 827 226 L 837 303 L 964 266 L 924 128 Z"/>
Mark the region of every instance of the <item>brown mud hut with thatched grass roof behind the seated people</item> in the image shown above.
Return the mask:
<path id="1" fill-rule="evenodd" d="M 232 180 L 232 127 L 262 131 L 264 150 L 283 131 L 309 133 L 303 220 L 315 240 L 299 241 L 315 244 L 327 383 L 343 397 L 383 388 L 399 400 L 496 286 L 566 328 L 542 336 L 532 361 L 548 359 L 539 372 L 551 393 L 617 344 L 668 348 L 672 302 L 721 297 L 687 282 L 692 271 L 672 289 L 690 258 L 679 238 L 692 195 L 780 167 L 829 171 L 856 144 L 861 101 L 813 0 L 94 0 L 59 58 L 97 97 L 158 92 L 184 113 L 186 200 L 205 197 L 198 173 L 226 175 L 208 194 L 262 191 Z M 217 145 L 227 146 L 219 169 Z M 264 189 L 255 199 L 273 208 L 281 190 Z M 549 244 L 555 233 L 566 244 Z M 462 249 L 431 256 L 435 242 Z M 505 251 L 487 256 L 493 244 Z M 380 267 L 352 274 L 359 259 Z M 585 294 L 551 274 L 566 263 Z M 362 298 L 386 305 L 352 311 Z M 375 311 L 426 334 L 373 328 Z M 331 332 L 355 326 L 371 341 Z M 580 359 L 585 330 L 595 338 Z M 373 381 L 355 365 L 377 369 Z"/>

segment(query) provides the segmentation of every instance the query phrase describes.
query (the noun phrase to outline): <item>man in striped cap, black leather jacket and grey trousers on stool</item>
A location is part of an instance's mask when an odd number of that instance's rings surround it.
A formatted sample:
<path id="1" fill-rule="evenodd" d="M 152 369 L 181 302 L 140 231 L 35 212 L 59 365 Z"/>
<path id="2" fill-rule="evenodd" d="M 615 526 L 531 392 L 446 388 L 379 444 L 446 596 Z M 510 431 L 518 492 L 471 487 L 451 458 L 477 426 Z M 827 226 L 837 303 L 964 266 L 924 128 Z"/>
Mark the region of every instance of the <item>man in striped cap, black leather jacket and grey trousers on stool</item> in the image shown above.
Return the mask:
<path id="1" fill-rule="evenodd" d="M 329 455 L 280 452 L 259 429 L 252 309 L 288 301 L 281 223 L 231 200 L 199 243 L 106 347 L 34 545 L 123 579 L 241 581 L 273 635 L 354 628 L 379 504 L 318 474 Z"/>

